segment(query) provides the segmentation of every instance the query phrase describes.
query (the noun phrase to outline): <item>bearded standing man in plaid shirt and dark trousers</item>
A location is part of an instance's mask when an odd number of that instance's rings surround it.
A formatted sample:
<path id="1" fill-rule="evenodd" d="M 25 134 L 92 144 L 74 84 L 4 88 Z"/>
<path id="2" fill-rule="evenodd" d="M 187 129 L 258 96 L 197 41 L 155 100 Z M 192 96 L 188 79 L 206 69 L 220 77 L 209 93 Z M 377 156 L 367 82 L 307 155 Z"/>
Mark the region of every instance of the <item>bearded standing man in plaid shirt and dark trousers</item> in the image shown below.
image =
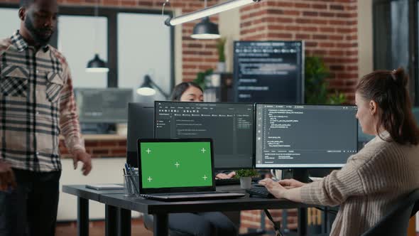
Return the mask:
<path id="1" fill-rule="evenodd" d="M 0 235 L 54 235 L 60 143 L 92 169 L 65 58 L 48 45 L 57 0 L 21 0 L 20 30 L 0 40 Z"/>

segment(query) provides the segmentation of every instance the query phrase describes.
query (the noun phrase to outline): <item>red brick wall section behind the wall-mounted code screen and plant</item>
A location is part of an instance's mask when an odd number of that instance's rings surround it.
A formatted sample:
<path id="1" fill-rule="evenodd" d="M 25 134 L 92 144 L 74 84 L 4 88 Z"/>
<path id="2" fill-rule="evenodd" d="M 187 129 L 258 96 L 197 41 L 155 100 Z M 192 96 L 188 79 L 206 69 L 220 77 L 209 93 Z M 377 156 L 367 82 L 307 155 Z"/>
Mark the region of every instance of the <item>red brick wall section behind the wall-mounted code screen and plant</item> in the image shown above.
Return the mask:
<path id="1" fill-rule="evenodd" d="M 304 40 L 305 55 L 324 58 L 330 87 L 354 101 L 358 79 L 357 1 L 263 0 L 241 9 L 241 40 Z"/>

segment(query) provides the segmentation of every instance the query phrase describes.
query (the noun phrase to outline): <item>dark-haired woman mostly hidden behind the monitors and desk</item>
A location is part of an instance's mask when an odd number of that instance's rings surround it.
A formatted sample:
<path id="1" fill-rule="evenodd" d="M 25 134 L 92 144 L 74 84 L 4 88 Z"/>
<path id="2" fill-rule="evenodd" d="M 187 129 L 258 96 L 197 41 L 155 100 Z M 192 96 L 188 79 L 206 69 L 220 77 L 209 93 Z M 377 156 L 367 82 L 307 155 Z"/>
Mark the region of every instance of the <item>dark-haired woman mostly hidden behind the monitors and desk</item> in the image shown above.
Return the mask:
<path id="1" fill-rule="evenodd" d="M 182 82 L 176 85 L 171 95 L 172 101 L 179 102 L 203 102 L 204 95 L 199 85 L 194 82 Z M 219 173 L 216 178 L 231 178 L 232 173 Z M 151 215 L 145 215 L 151 218 Z M 145 220 L 146 221 L 146 220 Z M 236 225 L 219 212 L 212 213 L 173 213 L 169 214 L 170 236 L 180 235 L 237 235 Z"/>

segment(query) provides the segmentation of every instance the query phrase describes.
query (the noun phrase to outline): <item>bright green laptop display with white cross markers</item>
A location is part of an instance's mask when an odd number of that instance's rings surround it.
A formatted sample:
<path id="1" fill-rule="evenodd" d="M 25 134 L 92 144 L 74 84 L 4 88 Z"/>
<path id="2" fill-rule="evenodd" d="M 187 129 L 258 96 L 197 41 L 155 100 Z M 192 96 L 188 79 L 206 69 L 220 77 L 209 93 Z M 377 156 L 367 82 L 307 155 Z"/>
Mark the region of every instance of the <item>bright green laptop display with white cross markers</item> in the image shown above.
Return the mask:
<path id="1" fill-rule="evenodd" d="M 212 186 L 209 142 L 141 142 L 143 188 Z"/>

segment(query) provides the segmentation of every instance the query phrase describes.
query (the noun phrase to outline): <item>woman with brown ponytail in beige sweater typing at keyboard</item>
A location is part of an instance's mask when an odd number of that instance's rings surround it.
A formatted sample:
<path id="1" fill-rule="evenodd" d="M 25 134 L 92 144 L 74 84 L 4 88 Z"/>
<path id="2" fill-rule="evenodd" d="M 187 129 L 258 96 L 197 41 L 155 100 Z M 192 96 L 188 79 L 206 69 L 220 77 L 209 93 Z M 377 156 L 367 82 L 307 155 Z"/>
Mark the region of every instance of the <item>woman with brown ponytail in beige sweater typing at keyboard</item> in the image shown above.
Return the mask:
<path id="1" fill-rule="evenodd" d="M 362 131 L 374 134 L 339 171 L 321 181 L 260 183 L 276 198 L 340 205 L 330 235 L 361 235 L 408 193 L 419 188 L 419 129 L 411 112 L 403 69 L 365 75 L 355 93 Z"/>

